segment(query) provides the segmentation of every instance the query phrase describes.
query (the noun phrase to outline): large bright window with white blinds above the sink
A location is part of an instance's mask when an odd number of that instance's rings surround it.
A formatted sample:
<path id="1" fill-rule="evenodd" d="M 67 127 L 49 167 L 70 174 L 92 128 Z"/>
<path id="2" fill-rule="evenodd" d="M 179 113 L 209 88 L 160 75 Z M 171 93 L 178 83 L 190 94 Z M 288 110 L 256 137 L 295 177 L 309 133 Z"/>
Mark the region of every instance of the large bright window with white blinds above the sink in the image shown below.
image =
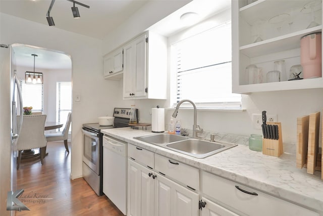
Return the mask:
<path id="1" fill-rule="evenodd" d="M 189 99 L 199 108 L 241 108 L 241 95 L 232 93 L 231 22 L 176 42 L 173 48 L 177 103 Z"/>

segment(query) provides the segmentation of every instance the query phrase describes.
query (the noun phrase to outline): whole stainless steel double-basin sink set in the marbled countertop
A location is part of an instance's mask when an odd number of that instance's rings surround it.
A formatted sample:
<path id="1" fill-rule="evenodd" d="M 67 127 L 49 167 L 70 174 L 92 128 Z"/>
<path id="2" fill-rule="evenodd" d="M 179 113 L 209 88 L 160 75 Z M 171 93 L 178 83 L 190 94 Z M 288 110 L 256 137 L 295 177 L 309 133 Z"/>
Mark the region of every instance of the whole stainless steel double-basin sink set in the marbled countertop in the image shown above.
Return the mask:
<path id="1" fill-rule="evenodd" d="M 160 147 L 164 147 L 195 158 L 205 158 L 210 155 L 237 146 L 235 144 L 209 142 L 205 140 L 183 137 L 174 134 L 156 134 L 142 137 L 134 137 L 134 139 L 149 144 L 157 145 Z"/>

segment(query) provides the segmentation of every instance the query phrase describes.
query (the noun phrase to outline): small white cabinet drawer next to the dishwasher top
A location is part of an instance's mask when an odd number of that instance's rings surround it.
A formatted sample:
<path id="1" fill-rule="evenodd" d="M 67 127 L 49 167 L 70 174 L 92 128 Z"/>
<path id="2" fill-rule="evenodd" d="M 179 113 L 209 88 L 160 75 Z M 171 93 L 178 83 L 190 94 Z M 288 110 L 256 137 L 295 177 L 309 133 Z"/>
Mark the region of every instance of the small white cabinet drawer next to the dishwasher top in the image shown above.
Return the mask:
<path id="1" fill-rule="evenodd" d="M 128 143 L 128 157 L 148 168 L 153 168 L 153 152 Z"/>

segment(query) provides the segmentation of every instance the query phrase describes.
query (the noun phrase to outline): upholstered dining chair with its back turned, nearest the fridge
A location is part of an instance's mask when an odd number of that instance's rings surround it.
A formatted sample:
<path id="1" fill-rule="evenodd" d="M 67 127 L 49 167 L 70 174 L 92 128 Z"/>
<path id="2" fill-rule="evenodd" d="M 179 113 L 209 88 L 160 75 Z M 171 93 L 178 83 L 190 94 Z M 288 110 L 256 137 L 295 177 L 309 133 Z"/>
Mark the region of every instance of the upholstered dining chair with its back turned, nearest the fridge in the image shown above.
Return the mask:
<path id="1" fill-rule="evenodd" d="M 19 122 L 21 116 L 17 116 Z M 17 169 L 20 167 L 23 150 L 39 148 L 41 165 L 46 152 L 45 121 L 46 115 L 23 115 L 21 131 L 17 141 L 18 161 Z"/>

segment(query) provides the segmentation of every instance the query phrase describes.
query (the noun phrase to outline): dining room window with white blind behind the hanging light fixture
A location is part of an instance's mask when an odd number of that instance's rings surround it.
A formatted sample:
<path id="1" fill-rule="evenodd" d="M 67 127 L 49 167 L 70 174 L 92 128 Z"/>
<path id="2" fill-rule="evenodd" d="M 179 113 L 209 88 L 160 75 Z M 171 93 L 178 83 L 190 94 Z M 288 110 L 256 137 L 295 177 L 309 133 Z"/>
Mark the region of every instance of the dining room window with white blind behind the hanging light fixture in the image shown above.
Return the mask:
<path id="1" fill-rule="evenodd" d="M 33 112 L 43 112 L 44 94 L 42 84 L 27 84 L 20 80 L 20 88 L 24 107 L 32 107 Z"/>

